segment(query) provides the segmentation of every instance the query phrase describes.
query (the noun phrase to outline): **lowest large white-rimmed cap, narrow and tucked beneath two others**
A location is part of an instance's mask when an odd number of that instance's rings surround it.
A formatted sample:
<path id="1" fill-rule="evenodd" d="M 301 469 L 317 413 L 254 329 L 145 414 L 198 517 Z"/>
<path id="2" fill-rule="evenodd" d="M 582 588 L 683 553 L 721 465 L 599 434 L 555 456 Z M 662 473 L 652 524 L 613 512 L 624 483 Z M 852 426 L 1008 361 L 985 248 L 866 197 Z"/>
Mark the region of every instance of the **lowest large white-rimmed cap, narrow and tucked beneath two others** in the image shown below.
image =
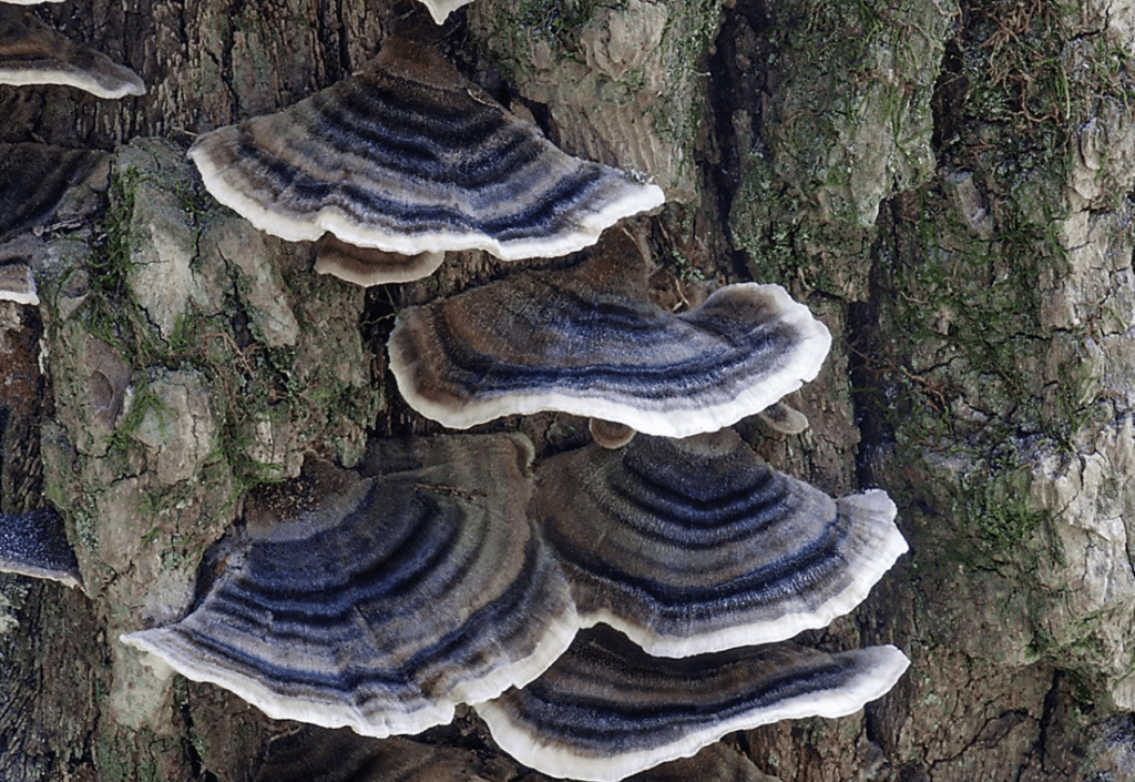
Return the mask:
<path id="1" fill-rule="evenodd" d="M 656 658 L 596 627 L 523 690 L 474 708 L 524 765 L 552 776 L 621 780 L 733 731 L 852 714 L 886 693 L 908 665 L 891 646 L 829 655 L 780 643 Z"/>

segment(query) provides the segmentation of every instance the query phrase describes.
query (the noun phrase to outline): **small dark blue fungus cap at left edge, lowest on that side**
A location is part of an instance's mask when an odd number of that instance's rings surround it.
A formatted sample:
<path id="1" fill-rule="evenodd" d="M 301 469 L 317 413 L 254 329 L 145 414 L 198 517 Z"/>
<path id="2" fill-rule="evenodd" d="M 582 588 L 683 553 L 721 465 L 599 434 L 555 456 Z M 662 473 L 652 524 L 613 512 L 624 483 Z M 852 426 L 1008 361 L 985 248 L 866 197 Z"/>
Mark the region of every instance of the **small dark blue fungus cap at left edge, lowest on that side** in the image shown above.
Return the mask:
<path id="1" fill-rule="evenodd" d="M 0 514 L 0 572 L 50 579 L 67 586 L 83 583 L 64 521 L 49 509 Z"/>

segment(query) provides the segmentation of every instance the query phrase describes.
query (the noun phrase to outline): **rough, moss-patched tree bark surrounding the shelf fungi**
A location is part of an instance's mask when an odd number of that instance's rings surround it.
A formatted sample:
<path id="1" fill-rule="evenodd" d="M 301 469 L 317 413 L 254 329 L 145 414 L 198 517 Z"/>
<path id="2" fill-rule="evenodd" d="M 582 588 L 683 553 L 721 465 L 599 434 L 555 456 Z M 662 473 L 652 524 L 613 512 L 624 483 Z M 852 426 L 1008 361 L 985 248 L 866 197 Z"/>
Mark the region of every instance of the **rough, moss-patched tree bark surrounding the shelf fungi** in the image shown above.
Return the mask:
<path id="1" fill-rule="evenodd" d="M 896 498 L 911 554 L 812 638 L 896 643 L 913 665 L 859 715 L 731 737 L 753 763 L 717 749 L 700 771 L 1135 775 L 1135 7 L 477 0 L 440 30 L 380 0 L 37 13 L 150 92 L 0 86 L 0 141 L 115 150 L 72 217 L 5 250 L 43 305 L 0 302 L 0 510 L 59 507 L 86 593 L 0 576 L 0 777 L 286 779 L 272 764 L 295 752 L 336 758 L 326 779 L 386 779 L 432 751 L 436 779 L 540 779 L 470 715 L 424 734 L 432 750 L 379 746 L 162 682 L 117 641 L 184 610 L 250 486 L 438 429 L 385 372 L 393 314 L 507 265 L 452 253 L 364 294 L 219 207 L 184 159 L 193 134 L 335 82 L 390 31 L 569 151 L 656 177 L 674 202 L 631 227 L 659 301 L 780 282 L 835 336 L 789 400 L 809 430 L 739 429 L 826 491 Z M 545 452 L 586 438 L 568 416 L 498 426 Z"/>

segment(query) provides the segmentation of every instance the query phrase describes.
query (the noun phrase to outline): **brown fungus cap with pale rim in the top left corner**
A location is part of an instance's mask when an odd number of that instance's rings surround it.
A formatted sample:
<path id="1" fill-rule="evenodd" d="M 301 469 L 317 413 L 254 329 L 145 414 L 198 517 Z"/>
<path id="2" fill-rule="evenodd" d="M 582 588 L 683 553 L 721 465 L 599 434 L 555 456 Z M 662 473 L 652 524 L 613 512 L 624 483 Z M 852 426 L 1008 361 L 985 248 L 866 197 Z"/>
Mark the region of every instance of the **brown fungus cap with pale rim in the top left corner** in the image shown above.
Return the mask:
<path id="1" fill-rule="evenodd" d="M 145 94 L 129 68 L 72 43 L 31 13 L 0 5 L 0 84 L 67 84 L 99 98 Z"/>

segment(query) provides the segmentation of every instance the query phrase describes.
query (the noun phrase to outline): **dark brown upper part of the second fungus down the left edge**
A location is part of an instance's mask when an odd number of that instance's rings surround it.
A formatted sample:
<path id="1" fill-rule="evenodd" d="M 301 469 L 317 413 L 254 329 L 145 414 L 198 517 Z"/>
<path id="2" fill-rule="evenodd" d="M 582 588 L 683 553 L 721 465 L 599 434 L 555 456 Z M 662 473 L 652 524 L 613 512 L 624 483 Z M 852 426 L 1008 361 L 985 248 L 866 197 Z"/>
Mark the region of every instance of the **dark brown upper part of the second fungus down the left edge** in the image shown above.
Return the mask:
<path id="1" fill-rule="evenodd" d="M 0 144 L 0 240 L 48 221 L 67 191 L 93 178 L 106 158 L 98 150 Z"/>

